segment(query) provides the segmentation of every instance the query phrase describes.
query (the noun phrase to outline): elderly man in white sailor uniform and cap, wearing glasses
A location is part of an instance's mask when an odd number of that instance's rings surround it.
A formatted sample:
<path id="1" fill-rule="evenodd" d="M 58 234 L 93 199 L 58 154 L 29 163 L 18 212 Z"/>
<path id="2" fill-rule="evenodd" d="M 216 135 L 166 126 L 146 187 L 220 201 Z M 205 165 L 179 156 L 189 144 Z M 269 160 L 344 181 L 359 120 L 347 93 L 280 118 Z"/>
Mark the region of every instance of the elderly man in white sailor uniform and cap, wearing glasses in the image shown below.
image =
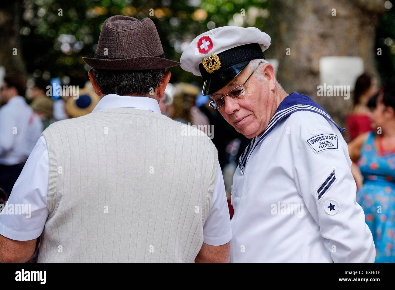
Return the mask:
<path id="1" fill-rule="evenodd" d="M 233 176 L 231 262 L 374 262 L 372 234 L 355 202 L 344 131 L 307 95 L 287 94 L 258 28 L 225 26 L 181 56 L 203 95 L 252 139 Z"/>

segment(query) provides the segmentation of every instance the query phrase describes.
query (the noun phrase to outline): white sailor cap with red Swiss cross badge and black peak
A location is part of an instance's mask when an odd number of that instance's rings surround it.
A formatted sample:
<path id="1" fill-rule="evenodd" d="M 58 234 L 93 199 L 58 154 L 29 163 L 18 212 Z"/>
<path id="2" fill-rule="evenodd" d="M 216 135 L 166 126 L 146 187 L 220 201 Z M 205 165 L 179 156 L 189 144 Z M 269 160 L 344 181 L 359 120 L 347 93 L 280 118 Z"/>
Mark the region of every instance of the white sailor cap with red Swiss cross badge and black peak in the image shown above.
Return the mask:
<path id="1" fill-rule="evenodd" d="M 197 36 L 182 52 L 181 67 L 203 77 L 202 95 L 217 92 L 251 60 L 265 59 L 270 36 L 256 27 L 224 26 Z"/>

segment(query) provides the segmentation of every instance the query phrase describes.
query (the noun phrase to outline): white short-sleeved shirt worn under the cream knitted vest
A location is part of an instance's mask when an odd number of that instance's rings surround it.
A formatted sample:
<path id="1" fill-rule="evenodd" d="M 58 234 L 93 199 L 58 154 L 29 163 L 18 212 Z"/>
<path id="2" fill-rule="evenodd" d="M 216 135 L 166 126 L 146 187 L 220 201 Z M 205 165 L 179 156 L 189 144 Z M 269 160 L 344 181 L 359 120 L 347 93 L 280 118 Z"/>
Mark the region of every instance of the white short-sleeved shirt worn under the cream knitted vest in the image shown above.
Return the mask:
<path id="1" fill-rule="evenodd" d="M 94 108 L 136 108 L 161 114 L 158 102 L 149 97 L 105 95 Z M 9 239 L 26 241 L 41 235 L 48 217 L 49 157 L 44 136 L 37 141 L 16 181 L 7 204 L 31 204 L 31 217 L 0 213 L 0 234 Z M 6 205 L 7 207 L 7 205 Z M 224 179 L 218 163 L 212 207 L 203 225 L 203 242 L 209 245 L 224 245 L 232 233 L 226 200 Z"/>

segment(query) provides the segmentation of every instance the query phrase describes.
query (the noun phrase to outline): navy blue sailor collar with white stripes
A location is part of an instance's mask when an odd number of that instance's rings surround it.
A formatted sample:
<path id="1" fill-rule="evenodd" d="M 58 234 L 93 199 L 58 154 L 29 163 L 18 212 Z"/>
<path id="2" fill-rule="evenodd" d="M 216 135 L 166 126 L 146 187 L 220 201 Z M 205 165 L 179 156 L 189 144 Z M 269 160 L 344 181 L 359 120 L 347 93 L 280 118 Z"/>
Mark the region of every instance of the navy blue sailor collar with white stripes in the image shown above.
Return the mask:
<path id="1" fill-rule="evenodd" d="M 241 170 L 242 174 L 245 172 L 248 158 L 254 149 L 282 120 L 297 111 L 310 111 L 318 113 L 334 123 L 340 132 L 344 131 L 344 128 L 339 127 L 335 121 L 332 120 L 327 111 L 320 107 L 320 105 L 314 102 L 309 96 L 293 92 L 292 94 L 286 96 L 284 100 L 282 100 L 273 117 L 271 118 L 269 125 L 267 125 L 267 128 L 260 135 L 254 137 L 244 150 L 243 154 L 241 154 L 239 158 L 239 169 Z"/>

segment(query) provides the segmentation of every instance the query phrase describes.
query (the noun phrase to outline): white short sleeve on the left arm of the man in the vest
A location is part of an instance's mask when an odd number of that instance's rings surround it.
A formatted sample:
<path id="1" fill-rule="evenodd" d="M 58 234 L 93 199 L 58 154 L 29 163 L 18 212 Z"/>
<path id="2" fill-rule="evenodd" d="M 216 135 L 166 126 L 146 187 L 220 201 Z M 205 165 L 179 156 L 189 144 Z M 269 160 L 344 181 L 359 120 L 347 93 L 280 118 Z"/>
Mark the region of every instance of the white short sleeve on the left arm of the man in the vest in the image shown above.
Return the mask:
<path id="1" fill-rule="evenodd" d="M 38 238 L 48 217 L 49 157 L 44 136 L 36 146 L 0 213 L 0 234 L 17 241 Z"/>

